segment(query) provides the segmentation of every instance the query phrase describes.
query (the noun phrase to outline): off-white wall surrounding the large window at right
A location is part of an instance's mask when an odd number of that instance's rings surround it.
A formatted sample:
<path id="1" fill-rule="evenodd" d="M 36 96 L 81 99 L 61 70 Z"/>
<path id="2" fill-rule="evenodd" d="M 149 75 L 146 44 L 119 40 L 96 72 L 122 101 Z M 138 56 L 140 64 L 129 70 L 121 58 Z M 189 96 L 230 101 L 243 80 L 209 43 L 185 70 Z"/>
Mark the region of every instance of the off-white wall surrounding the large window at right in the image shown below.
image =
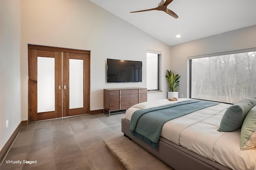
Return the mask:
<path id="1" fill-rule="evenodd" d="M 188 97 L 188 57 L 256 47 L 256 25 L 170 47 L 170 68 L 180 77 L 179 97 Z"/>

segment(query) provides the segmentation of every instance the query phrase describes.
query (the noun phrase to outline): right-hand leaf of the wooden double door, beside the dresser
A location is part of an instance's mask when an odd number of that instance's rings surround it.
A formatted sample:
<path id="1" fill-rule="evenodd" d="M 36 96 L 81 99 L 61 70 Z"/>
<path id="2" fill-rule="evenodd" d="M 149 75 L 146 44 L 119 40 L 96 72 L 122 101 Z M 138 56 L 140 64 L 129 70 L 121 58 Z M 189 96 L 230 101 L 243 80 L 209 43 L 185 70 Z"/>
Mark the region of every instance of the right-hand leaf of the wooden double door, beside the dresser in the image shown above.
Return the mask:
<path id="1" fill-rule="evenodd" d="M 89 113 L 89 90 L 86 86 L 76 87 L 79 83 L 87 84 L 90 82 L 90 69 L 88 67 L 88 63 L 90 63 L 88 54 L 63 53 L 63 117 Z M 81 78 L 75 78 L 76 80 L 74 80 L 73 77 L 70 77 L 70 69 L 72 68 L 74 70 L 74 67 L 78 65 L 80 65 L 80 68 L 83 70 L 83 74 L 79 75 Z M 79 68 L 74 71 L 74 74 L 79 74 Z M 71 84 L 73 84 L 73 88 L 70 88 Z M 80 91 L 78 88 L 80 88 Z M 84 92 L 83 95 L 80 95 L 81 91 Z M 75 99 L 72 99 L 72 96 L 75 96 Z"/>

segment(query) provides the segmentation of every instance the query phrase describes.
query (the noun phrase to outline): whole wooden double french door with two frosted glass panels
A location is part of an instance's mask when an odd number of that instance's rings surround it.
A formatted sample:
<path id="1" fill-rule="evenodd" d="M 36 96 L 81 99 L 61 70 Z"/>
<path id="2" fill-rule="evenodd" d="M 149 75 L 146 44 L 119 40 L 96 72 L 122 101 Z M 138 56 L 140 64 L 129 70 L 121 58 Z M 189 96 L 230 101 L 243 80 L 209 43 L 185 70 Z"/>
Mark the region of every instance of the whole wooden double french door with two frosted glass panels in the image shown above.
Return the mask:
<path id="1" fill-rule="evenodd" d="M 29 121 L 90 111 L 90 51 L 28 46 Z"/>

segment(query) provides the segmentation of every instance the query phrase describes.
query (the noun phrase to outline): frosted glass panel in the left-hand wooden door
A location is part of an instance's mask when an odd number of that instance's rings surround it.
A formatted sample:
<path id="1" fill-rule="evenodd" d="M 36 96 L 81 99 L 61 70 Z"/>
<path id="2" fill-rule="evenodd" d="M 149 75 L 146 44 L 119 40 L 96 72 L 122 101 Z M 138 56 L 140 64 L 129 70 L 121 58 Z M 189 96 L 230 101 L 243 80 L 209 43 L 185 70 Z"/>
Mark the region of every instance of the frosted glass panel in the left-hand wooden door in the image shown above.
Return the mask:
<path id="1" fill-rule="evenodd" d="M 55 110 L 54 58 L 37 57 L 37 112 Z"/>

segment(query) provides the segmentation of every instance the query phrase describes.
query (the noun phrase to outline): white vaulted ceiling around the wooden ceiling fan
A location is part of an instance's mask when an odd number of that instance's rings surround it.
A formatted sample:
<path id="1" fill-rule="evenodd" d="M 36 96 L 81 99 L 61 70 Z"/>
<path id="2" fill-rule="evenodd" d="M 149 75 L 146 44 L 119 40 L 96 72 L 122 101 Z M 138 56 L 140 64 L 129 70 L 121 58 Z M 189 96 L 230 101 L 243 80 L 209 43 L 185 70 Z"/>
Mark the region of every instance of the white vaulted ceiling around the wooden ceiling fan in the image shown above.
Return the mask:
<path id="1" fill-rule="evenodd" d="M 173 0 L 168 9 L 177 19 L 156 10 L 130 13 L 156 8 L 161 0 L 90 1 L 168 45 L 256 25 L 256 0 Z"/>

